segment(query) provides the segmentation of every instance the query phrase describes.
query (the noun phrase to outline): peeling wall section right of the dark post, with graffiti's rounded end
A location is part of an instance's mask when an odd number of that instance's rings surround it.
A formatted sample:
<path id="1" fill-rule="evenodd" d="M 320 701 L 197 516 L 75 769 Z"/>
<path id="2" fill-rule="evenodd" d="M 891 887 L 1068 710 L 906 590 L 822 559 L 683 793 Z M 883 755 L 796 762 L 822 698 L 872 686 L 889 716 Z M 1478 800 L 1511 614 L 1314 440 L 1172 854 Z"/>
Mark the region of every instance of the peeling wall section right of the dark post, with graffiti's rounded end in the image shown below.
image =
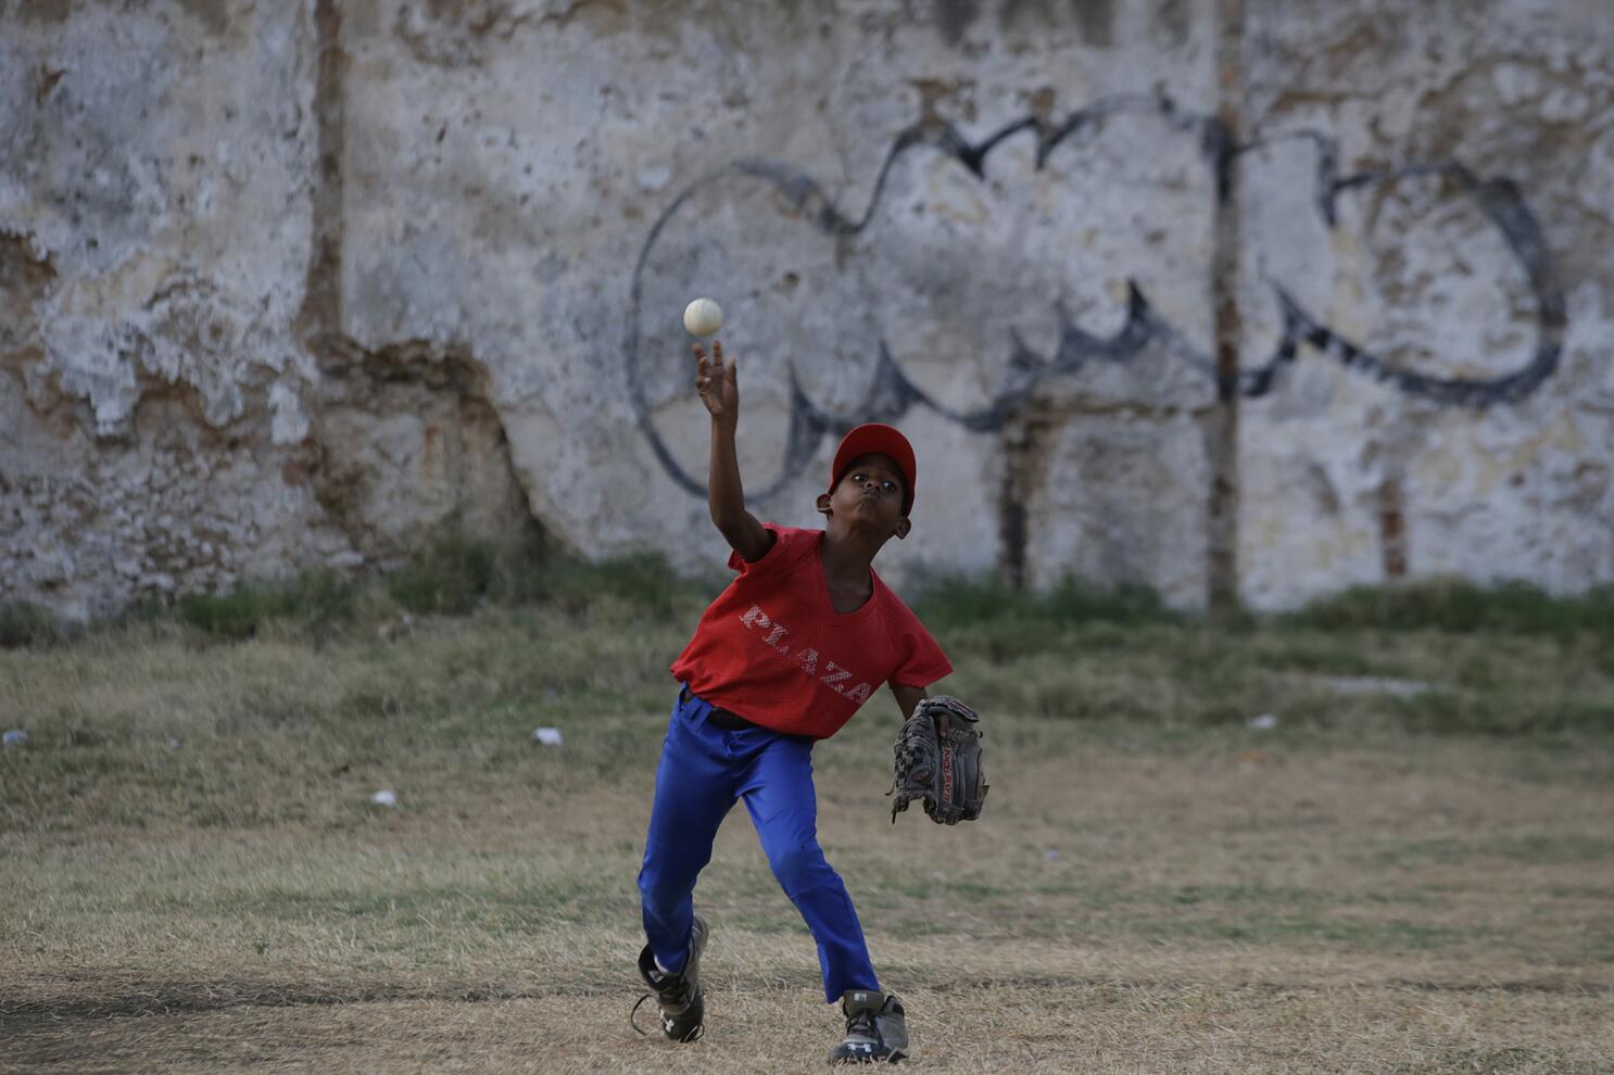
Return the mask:
<path id="1" fill-rule="evenodd" d="M 1249 161 L 1249 350 L 1278 316 L 1261 281 L 1280 279 L 1398 366 L 1496 386 L 1451 405 L 1309 349 L 1246 400 L 1240 562 L 1257 605 L 1399 576 L 1614 581 L 1614 24 L 1596 0 L 1486 6 L 1249 6 L 1251 124 L 1328 132 L 1341 174 L 1375 176 L 1338 192 L 1327 228 L 1285 194 L 1315 174 L 1317 144 Z M 1503 182 L 1540 250 L 1498 226 Z M 1532 366 L 1540 383 L 1509 394 Z"/>

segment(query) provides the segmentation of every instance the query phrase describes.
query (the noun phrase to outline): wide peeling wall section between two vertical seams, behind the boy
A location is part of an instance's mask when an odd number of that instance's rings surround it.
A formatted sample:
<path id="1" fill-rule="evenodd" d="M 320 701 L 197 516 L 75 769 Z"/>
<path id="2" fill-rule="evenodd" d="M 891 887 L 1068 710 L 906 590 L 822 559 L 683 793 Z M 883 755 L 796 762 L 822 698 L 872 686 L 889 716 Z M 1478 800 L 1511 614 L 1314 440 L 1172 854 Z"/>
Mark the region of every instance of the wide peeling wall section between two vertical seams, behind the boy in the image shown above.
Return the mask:
<path id="1" fill-rule="evenodd" d="M 1046 392 L 1062 421 L 1093 412 L 1173 462 L 1141 468 L 1164 484 L 1127 518 L 1102 510 L 1119 475 L 1083 492 L 1046 466 L 1023 578 L 1102 563 L 1194 602 L 1206 387 L 1154 376 L 1164 353 L 1075 387 L 1027 365 L 1057 362 L 1070 324 L 1125 323 L 1128 278 L 1209 324 L 1212 178 L 1154 103 L 1212 81 L 1188 6 L 368 5 L 344 26 L 344 328 L 471 344 L 544 525 L 683 568 L 721 562 L 678 320 L 692 295 L 728 312 L 759 515 L 813 523 L 846 425 L 884 415 L 918 439 L 915 531 L 881 565 L 897 578 L 1004 562 L 1002 489 L 1025 475 L 1002 400 Z M 1031 128 L 985 166 L 960 145 L 1117 94 L 1136 95 L 1120 121 L 1043 160 Z"/>

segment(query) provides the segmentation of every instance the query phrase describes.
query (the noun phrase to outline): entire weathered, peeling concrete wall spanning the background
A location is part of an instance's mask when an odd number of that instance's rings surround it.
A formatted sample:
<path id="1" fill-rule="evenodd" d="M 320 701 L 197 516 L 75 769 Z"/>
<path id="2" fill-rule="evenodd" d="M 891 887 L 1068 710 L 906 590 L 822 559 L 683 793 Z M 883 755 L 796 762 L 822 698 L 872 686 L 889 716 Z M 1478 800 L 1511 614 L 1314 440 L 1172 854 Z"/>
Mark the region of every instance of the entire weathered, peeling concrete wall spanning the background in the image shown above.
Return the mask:
<path id="1" fill-rule="evenodd" d="M 0 5 L 0 597 L 710 565 L 702 294 L 759 513 L 915 439 L 891 576 L 1614 581 L 1614 42 L 1486 6 Z"/>

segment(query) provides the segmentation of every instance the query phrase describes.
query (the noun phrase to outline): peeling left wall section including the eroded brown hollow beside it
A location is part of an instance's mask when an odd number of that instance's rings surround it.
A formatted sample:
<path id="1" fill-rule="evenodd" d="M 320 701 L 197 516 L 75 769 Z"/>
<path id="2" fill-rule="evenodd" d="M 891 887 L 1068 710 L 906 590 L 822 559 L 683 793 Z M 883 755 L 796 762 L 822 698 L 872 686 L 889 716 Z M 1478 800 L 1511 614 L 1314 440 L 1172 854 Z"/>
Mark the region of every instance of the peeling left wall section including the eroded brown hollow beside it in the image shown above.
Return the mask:
<path id="1" fill-rule="evenodd" d="M 0 600 L 526 518 L 481 370 L 307 331 L 318 60 L 313 5 L 0 5 Z"/>

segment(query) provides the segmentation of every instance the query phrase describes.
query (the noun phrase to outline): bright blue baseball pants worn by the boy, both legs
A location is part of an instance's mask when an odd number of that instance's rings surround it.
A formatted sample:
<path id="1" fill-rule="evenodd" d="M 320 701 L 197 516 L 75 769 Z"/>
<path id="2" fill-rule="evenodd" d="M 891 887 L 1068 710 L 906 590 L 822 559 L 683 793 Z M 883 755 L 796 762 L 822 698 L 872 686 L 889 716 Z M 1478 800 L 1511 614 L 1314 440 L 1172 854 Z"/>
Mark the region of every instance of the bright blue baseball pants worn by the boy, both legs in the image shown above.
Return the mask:
<path id="1" fill-rule="evenodd" d="M 683 970 L 696 876 L 712 860 L 723 815 L 744 799 L 773 876 L 818 943 L 825 999 L 833 1004 L 847 989 L 878 991 L 852 897 L 818 847 L 813 741 L 767 728 L 725 731 L 707 723 L 710 712 L 709 702 L 679 694 L 655 770 L 639 896 L 657 962 Z"/>

